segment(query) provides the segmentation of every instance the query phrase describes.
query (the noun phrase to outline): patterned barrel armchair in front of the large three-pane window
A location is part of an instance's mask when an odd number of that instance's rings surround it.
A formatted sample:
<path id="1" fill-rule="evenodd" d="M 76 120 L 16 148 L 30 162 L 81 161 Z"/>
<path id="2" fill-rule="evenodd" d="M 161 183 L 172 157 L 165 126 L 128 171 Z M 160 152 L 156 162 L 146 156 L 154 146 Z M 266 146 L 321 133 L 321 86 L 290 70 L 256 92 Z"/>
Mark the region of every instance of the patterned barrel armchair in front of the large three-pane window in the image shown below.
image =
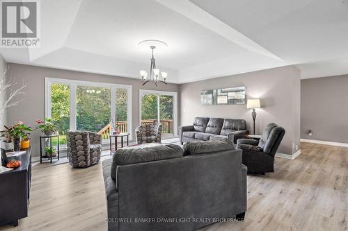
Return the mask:
<path id="1" fill-rule="evenodd" d="M 95 132 L 69 131 L 67 135 L 69 163 L 73 167 L 97 164 L 102 154 L 101 135 Z"/>

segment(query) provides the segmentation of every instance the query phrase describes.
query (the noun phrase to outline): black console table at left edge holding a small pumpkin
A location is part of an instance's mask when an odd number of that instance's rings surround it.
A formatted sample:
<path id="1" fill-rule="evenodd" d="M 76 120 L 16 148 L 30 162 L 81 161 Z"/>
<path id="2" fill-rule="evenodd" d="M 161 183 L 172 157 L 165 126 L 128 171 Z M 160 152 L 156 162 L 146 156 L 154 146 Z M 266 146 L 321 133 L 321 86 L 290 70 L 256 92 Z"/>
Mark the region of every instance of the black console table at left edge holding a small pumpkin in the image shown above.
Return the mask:
<path id="1" fill-rule="evenodd" d="M 0 225 L 18 225 L 28 216 L 29 189 L 31 187 L 31 147 L 15 158 L 22 165 L 12 171 L 0 173 Z M 9 158 L 9 160 L 11 160 Z"/>

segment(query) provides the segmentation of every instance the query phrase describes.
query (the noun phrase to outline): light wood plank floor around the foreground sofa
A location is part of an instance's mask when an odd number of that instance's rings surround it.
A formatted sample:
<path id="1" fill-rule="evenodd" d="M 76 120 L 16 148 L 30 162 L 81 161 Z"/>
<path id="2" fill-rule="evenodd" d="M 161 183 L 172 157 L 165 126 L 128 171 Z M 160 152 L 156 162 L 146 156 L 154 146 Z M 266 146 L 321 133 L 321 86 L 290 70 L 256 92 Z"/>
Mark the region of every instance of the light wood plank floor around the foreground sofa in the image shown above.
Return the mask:
<path id="1" fill-rule="evenodd" d="M 243 223 L 212 230 L 348 230 L 348 148 L 301 144 L 295 160 L 276 158 L 276 172 L 248 176 Z M 10 192 L 9 192 L 10 193 Z M 106 230 L 101 164 L 33 168 L 29 216 L 0 230 Z"/>

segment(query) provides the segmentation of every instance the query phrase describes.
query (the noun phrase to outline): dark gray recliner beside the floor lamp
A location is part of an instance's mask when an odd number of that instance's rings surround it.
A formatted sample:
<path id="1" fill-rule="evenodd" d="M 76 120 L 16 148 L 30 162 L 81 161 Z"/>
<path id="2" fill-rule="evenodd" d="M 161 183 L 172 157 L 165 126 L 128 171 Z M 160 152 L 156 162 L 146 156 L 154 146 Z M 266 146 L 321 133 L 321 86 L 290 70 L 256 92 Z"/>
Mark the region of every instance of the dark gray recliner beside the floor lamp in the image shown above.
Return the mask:
<path id="1" fill-rule="evenodd" d="M 243 164 L 248 167 L 248 173 L 274 172 L 274 155 L 285 135 L 285 129 L 269 123 L 260 141 L 255 139 L 238 139 L 237 148 L 243 151 Z"/>

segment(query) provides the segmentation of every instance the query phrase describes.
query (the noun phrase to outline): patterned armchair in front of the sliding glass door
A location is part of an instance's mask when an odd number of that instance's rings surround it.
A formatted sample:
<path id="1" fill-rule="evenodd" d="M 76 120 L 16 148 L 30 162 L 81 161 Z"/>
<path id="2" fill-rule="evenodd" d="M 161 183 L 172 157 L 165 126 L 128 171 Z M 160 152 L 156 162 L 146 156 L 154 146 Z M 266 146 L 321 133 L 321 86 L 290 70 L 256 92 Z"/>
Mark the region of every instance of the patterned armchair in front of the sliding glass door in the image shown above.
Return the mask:
<path id="1" fill-rule="evenodd" d="M 161 123 L 145 123 L 135 129 L 136 144 L 161 143 Z"/>

